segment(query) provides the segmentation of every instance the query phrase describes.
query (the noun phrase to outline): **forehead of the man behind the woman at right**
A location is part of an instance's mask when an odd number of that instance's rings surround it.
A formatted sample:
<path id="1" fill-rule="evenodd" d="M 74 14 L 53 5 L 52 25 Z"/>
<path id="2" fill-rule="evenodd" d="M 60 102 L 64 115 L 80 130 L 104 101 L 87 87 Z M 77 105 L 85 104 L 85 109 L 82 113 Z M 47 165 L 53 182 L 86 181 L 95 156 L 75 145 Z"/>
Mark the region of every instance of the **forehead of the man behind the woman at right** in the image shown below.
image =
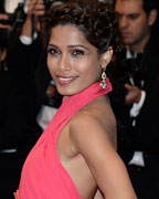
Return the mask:
<path id="1" fill-rule="evenodd" d="M 116 0 L 115 10 L 121 14 L 144 12 L 142 0 Z"/>

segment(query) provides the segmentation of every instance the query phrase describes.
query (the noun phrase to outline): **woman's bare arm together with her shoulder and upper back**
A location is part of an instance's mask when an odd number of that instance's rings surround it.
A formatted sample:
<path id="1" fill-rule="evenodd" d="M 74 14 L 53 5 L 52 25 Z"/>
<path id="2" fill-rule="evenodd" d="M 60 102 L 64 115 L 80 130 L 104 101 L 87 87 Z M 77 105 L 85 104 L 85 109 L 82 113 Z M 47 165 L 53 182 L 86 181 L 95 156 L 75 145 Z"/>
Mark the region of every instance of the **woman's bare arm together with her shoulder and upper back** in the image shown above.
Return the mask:
<path id="1" fill-rule="evenodd" d="M 70 137 L 104 198 L 136 199 L 125 165 L 116 153 L 116 121 L 108 100 L 99 97 L 78 112 L 70 124 Z M 95 197 L 103 196 L 98 192 Z"/>

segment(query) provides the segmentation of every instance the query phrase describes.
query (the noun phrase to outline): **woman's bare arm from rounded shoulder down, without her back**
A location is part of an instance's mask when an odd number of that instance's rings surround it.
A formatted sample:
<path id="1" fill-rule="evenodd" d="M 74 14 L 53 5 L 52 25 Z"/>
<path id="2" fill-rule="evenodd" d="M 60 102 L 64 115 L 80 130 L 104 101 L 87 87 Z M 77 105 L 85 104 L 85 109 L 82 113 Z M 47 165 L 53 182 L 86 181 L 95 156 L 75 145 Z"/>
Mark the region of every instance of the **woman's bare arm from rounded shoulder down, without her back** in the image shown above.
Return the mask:
<path id="1" fill-rule="evenodd" d="M 75 148 L 83 155 L 106 199 L 136 199 L 124 163 L 112 142 L 114 127 L 108 123 L 106 126 L 89 115 L 82 115 L 71 127 Z"/>

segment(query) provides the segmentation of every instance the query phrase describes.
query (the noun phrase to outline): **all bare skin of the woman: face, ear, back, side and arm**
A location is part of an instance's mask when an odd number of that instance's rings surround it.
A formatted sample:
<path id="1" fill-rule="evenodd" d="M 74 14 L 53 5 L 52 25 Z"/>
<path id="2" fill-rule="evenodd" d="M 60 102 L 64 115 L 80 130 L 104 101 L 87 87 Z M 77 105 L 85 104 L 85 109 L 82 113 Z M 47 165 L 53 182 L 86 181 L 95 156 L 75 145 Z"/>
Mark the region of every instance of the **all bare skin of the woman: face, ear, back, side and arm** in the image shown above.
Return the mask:
<path id="1" fill-rule="evenodd" d="M 47 49 L 49 70 L 66 98 L 96 82 L 113 54 L 108 50 L 98 56 L 83 33 L 68 24 L 52 29 Z M 107 96 L 95 98 L 73 116 L 59 136 L 57 153 L 84 199 L 136 199 L 116 153 L 116 121 Z"/>

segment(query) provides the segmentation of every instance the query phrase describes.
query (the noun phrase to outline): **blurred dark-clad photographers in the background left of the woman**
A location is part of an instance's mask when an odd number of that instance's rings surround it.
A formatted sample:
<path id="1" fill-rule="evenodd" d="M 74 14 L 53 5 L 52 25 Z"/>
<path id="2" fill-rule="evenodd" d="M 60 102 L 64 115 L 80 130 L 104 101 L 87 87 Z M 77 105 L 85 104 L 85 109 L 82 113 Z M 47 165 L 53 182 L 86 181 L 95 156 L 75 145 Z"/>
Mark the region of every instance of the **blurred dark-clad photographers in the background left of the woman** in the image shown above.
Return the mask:
<path id="1" fill-rule="evenodd" d="M 0 198 L 13 198 L 23 161 L 62 97 L 41 41 L 40 20 L 50 3 L 0 2 Z"/>

